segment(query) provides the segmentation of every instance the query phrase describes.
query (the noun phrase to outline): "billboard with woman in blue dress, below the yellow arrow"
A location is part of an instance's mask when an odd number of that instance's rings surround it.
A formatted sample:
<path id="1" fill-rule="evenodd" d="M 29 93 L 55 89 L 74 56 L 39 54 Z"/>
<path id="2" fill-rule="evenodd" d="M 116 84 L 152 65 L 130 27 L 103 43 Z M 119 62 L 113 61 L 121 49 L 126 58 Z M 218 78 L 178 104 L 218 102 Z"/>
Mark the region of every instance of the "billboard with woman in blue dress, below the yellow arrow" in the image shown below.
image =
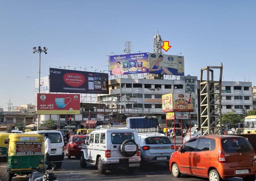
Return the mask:
<path id="1" fill-rule="evenodd" d="M 149 73 L 184 76 L 184 57 L 149 53 Z"/>

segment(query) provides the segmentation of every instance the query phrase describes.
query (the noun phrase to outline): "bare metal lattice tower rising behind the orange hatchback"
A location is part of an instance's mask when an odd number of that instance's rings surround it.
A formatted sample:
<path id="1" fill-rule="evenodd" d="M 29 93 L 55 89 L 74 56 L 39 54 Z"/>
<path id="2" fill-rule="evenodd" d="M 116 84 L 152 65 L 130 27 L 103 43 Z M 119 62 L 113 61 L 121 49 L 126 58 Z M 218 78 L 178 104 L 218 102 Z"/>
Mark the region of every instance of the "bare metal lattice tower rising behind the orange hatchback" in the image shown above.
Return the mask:
<path id="1" fill-rule="evenodd" d="M 219 69 L 219 81 L 214 81 L 213 69 Z M 223 65 L 208 66 L 200 72 L 200 108 L 201 135 L 222 134 L 221 126 L 221 82 Z M 207 79 L 203 80 L 203 72 L 207 72 Z"/>

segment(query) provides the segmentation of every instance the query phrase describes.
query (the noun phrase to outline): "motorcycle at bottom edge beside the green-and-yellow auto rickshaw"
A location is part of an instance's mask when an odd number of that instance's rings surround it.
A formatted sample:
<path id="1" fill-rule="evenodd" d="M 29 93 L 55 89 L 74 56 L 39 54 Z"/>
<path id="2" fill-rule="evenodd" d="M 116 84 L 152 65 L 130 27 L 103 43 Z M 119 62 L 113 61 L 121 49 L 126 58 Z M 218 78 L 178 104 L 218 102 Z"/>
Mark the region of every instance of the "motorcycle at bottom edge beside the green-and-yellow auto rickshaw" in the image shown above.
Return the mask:
<path id="1" fill-rule="evenodd" d="M 58 181 L 56 175 L 47 171 L 46 168 L 30 167 L 30 169 L 34 169 L 34 171 L 31 173 L 29 181 Z"/>

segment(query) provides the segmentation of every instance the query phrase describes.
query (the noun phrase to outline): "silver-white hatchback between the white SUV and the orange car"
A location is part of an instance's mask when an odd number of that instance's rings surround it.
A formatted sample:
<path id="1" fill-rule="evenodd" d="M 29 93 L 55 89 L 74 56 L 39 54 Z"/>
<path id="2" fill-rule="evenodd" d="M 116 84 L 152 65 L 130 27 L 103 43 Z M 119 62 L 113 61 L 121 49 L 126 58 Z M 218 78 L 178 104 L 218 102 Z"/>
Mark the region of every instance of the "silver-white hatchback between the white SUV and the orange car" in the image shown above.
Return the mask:
<path id="1" fill-rule="evenodd" d="M 169 159 L 175 151 L 170 139 L 161 133 L 139 133 L 141 147 L 141 163 L 164 162 L 169 165 Z"/>

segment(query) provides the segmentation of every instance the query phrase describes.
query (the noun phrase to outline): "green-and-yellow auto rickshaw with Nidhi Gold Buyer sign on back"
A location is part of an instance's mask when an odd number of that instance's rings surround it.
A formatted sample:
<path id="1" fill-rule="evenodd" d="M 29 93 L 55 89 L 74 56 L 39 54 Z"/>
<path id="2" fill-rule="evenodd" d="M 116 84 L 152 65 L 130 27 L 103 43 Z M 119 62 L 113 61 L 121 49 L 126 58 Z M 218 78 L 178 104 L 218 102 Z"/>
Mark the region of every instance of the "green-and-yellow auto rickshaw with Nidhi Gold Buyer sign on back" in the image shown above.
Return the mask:
<path id="1" fill-rule="evenodd" d="M 31 174 L 30 167 L 45 167 L 44 137 L 40 134 L 10 134 L 8 144 L 8 181 L 16 175 Z"/>

